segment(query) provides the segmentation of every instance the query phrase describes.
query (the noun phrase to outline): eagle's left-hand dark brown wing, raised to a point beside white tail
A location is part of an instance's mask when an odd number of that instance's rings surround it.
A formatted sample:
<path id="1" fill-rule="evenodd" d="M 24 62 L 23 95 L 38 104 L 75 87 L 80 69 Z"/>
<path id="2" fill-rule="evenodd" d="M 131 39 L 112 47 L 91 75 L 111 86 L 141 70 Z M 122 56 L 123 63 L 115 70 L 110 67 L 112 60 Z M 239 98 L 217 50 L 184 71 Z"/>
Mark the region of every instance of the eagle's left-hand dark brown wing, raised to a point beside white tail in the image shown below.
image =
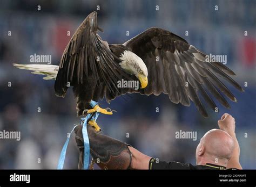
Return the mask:
<path id="1" fill-rule="evenodd" d="M 115 57 L 100 39 L 98 30 L 102 31 L 97 25 L 97 12 L 92 12 L 73 34 L 60 60 L 55 81 L 57 96 L 65 96 L 69 88 L 68 82 L 85 87 L 83 80 L 89 76 L 90 81 L 96 83 L 97 89 L 103 90 L 103 96 L 105 87 L 110 92 L 118 91 L 117 81 L 125 76 L 125 73 L 114 62 Z"/>

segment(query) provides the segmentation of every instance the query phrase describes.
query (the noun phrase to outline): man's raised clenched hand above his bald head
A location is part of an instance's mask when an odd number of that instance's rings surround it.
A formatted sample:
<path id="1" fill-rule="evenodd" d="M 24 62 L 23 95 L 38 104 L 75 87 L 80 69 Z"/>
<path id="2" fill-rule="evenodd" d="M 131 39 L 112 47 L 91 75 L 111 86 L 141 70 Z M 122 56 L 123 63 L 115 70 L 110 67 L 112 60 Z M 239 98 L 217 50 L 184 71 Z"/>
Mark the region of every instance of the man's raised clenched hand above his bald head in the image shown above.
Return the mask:
<path id="1" fill-rule="evenodd" d="M 235 132 L 235 119 L 228 113 L 224 113 L 221 119 L 218 121 L 220 130 L 233 134 Z"/>

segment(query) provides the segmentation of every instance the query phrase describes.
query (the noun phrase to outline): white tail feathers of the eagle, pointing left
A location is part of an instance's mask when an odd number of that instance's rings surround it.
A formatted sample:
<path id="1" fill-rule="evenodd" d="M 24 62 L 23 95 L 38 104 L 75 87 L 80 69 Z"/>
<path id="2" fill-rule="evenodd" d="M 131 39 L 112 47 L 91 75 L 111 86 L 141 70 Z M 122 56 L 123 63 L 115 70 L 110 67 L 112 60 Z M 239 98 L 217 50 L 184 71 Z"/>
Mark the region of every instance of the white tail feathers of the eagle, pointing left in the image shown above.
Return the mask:
<path id="1" fill-rule="evenodd" d="M 14 63 L 14 66 L 19 69 L 31 70 L 32 74 L 47 75 L 43 77 L 44 80 L 55 80 L 58 74 L 59 66 L 48 64 L 18 64 Z"/>

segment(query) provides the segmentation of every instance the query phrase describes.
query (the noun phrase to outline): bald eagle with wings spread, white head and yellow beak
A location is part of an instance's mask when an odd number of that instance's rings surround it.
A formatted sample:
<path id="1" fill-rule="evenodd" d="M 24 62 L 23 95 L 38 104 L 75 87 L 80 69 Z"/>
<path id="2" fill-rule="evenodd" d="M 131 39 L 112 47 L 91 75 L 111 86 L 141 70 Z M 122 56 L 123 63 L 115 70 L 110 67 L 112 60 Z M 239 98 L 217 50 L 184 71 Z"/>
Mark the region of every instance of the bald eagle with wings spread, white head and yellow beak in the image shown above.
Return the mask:
<path id="1" fill-rule="evenodd" d="M 171 102 L 184 106 L 190 106 L 191 100 L 208 117 L 199 95 L 213 110 L 217 106 L 209 93 L 227 108 L 230 105 L 220 91 L 237 102 L 219 77 L 244 91 L 229 76 L 235 75 L 232 70 L 220 62 L 207 62 L 203 52 L 170 31 L 152 27 L 124 44 L 108 44 L 98 31 L 102 29 L 97 25 L 97 12 L 92 12 L 73 34 L 59 66 L 14 65 L 47 75 L 45 79 L 56 79 L 56 96 L 64 97 L 69 84 L 73 86 L 78 116 L 85 110 L 111 114 L 98 105 L 91 109 L 90 101 L 105 97 L 110 103 L 117 96 L 137 92 L 156 96 L 165 93 Z M 120 88 L 120 80 L 139 81 L 140 88 Z"/>

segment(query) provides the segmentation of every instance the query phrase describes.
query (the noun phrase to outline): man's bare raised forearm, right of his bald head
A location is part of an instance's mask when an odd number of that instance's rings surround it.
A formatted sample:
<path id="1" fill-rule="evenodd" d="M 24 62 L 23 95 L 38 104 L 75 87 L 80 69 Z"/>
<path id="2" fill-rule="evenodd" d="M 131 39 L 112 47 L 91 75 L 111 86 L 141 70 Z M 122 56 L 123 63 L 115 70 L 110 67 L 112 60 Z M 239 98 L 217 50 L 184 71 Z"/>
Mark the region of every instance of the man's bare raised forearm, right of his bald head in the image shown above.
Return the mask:
<path id="1" fill-rule="evenodd" d="M 230 134 L 230 136 L 233 138 L 234 150 L 233 150 L 231 159 L 227 163 L 227 169 L 228 168 L 242 169 L 241 164 L 239 163 L 240 147 L 239 147 L 237 137 L 235 136 L 235 133 L 228 133 L 228 134 Z"/>

